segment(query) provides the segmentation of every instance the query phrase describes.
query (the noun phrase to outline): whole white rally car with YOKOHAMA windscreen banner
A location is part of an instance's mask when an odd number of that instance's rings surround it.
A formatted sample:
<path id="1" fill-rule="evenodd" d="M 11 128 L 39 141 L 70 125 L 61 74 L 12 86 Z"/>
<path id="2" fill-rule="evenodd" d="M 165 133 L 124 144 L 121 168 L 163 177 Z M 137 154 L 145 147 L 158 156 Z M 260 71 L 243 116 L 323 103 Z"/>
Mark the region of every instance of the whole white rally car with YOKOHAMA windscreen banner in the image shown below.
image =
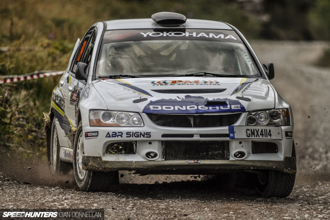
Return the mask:
<path id="1" fill-rule="evenodd" d="M 294 186 L 290 105 L 245 37 L 220 21 L 161 12 L 95 23 L 54 88 L 48 158 L 73 164 L 82 190 L 106 191 L 118 170 L 249 172 L 265 197 Z"/>

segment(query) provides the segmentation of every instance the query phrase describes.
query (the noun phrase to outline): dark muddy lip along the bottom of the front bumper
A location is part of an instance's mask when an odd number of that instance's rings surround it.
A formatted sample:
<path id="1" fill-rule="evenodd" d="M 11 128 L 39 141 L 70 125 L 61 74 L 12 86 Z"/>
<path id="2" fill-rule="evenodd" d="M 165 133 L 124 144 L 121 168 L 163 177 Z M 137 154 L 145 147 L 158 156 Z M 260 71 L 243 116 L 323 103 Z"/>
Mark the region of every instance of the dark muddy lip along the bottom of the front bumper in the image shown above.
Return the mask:
<path id="1" fill-rule="evenodd" d="M 135 170 L 148 174 L 216 174 L 226 171 L 271 169 L 296 173 L 295 157 L 270 160 L 167 160 L 167 161 L 105 161 L 99 156 L 83 156 L 82 168 L 93 171 Z"/>

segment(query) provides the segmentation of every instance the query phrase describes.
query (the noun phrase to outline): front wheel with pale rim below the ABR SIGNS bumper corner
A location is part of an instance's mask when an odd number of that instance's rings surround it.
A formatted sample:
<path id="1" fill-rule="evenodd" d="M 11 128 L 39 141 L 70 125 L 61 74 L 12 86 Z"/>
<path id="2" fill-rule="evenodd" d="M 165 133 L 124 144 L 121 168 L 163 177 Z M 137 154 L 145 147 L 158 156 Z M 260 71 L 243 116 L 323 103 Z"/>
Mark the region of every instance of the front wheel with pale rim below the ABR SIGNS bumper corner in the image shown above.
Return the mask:
<path id="1" fill-rule="evenodd" d="M 82 122 L 79 123 L 73 148 L 73 172 L 77 185 L 83 191 L 109 191 L 119 183 L 118 171 L 89 171 L 82 169 L 84 154 Z"/>

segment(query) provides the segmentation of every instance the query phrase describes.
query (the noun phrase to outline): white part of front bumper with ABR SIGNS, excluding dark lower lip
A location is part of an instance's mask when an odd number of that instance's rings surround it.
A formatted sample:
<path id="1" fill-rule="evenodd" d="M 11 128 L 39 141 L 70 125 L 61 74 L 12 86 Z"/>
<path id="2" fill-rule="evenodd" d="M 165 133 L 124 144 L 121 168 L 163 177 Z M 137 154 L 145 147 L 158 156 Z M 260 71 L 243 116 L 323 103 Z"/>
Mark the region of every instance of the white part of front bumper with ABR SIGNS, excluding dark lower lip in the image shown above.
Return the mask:
<path id="1" fill-rule="evenodd" d="M 248 127 L 247 127 L 248 129 Z M 279 139 L 258 139 L 258 138 L 241 138 L 237 133 L 235 139 L 230 138 L 229 127 L 218 128 L 170 128 L 160 126 L 145 127 L 83 127 L 83 132 L 88 134 L 97 134 L 96 137 L 84 138 L 84 155 L 101 157 L 103 161 L 122 161 L 122 162 L 142 162 L 150 161 L 146 157 L 147 152 L 157 152 L 155 161 L 168 160 L 164 157 L 165 143 L 169 141 L 177 142 L 199 142 L 199 145 L 209 145 L 210 142 L 226 142 L 229 145 L 229 160 L 239 160 L 234 157 L 235 152 L 244 152 L 245 157 L 241 160 L 251 161 L 282 161 L 285 157 L 292 154 L 292 136 L 286 137 L 286 133 L 293 131 L 293 126 L 278 127 L 281 132 Z M 279 133 L 280 133 L 279 132 Z M 132 135 L 135 134 L 135 135 Z M 143 135 L 143 136 L 142 136 Z M 169 136 L 166 136 L 169 135 Z M 175 135 L 180 135 L 176 137 Z M 185 137 L 185 135 L 191 135 Z M 212 136 L 220 135 L 220 137 Z M 109 144 L 118 142 L 136 142 L 136 153 L 134 154 L 109 154 L 106 149 Z M 255 153 L 253 152 L 253 144 L 255 143 L 273 143 L 278 146 L 276 153 Z M 175 147 L 174 147 L 175 148 Z M 191 156 L 191 158 L 170 159 L 170 160 L 214 160 L 213 158 L 201 158 Z M 224 160 L 224 159 L 217 159 Z"/>

